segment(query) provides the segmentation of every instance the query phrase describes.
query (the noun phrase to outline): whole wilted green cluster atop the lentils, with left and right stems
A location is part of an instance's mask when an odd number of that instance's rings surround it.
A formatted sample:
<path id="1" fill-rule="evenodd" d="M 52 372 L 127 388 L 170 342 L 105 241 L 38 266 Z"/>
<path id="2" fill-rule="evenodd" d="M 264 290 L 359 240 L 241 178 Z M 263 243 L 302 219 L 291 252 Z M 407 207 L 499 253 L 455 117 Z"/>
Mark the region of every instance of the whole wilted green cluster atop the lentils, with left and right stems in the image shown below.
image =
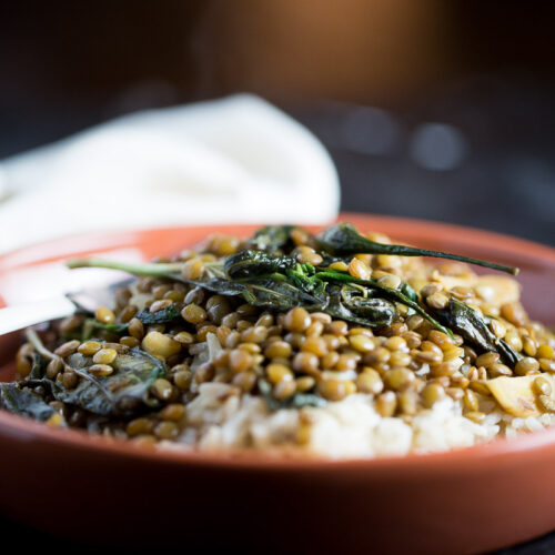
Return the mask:
<path id="1" fill-rule="evenodd" d="M 294 243 L 291 233 L 295 229 L 300 228 L 269 225 L 259 230 L 246 242 L 249 246 L 246 250 L 232 254 L 223 261 L 205 264 L 205 271 L 198 280 L 182 278 L 182 262 L 124 263 L 88 259 L 69 261 L 68 265 L 112 268 L 135 275 L 168 278 L 222 295 L 242 296 L 248 303 L 259 307 L 286 311 L 294 306 L 304 306 L 309 311 L 323 311 L 334 317 L 371 327 L 390 325 L 395 316 L 395 303 L 401 303 L 408 307 L 410 314 L 422 315 L 434 327 L 448 335 L 452 335 L 451 330 L 444 327 L 421 305 L 418 295 L 407 283 L 402 282 L 398 289 L 386 287 L 376 280 L 361 280 L 350 275 L 349 272 L 334 270 L 330 268 L 331 264 L 342 260 L 342 256 L 352 254 L 395 254 L 451 259 L 517 273 L 517 269 L 514 268 L 457 254 L 376 243 L 362 236 L 347 223 L 329 228 L 317 236 L 304 231 L 323 259 L 323 262 L 315 268 L 312 264 L 299 263 L 292 255 Z M 160 316 L 155 314 L 158 313 L 144 314 L 144 317 L 160 317 L 162 319 L 160 323 L 179 317 L 176 311 L 171 317 L 169 314 Z M 444 321 L 447 320 L 444 317 Z"/>

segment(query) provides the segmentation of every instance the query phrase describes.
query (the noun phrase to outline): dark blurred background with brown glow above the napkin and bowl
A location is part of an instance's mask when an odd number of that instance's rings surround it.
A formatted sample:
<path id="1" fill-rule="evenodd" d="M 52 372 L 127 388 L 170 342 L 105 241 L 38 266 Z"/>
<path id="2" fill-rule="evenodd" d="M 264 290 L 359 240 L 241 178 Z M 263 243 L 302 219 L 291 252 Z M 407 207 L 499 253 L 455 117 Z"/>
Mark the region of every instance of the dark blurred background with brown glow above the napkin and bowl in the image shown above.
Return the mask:
<path id="1" fill-rule="evenodd" d="M 0 158 L 255 92 L 330 150 L 342 208 L 555 244 L 555 2 L 0 3 Z"/>

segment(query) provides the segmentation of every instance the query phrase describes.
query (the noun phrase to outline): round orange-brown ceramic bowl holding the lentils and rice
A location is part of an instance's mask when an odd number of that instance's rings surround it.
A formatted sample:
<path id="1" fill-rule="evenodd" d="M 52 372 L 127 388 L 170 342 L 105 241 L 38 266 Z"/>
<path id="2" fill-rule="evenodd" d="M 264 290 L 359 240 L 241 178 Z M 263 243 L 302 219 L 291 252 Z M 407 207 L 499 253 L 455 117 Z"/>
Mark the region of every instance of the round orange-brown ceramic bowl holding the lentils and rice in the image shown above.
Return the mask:
<path id="1" fill-rule="evenodd" d="M 553 249 L 441 223 L 342 219 L 418 246 L 518 265 L 532 316 L 555 324 Z M 133 248 L 151 258 L 214 231 L 253 229 L 103 233 L 22 249 L 0 258 L 0 295 L 19 273 L 29 278 L 69 256 Z M 1 340 L 2 376 L 10 380 L 20 339 Z M 555 428 L 450 453 L 330 462 L 157 452 L 1 412 L 0 454 L 0 512 L 88 543 L 445 554 L 484 552 L 555 528 Z"/>

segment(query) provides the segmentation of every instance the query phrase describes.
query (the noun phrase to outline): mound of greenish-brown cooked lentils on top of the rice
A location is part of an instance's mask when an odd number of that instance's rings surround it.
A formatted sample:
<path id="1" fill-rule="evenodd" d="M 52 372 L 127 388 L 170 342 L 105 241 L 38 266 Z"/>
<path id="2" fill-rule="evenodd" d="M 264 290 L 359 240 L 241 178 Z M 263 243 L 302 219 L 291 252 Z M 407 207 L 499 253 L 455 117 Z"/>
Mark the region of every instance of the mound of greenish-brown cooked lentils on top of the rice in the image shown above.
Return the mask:
<path id="1" fill-rule="evenodd" d="M 379 234 L 369 238 L 387 241 Z M 310 245 L 303 244 L 302 234 L 293 235 L 293 240 L 296 242 L 293 254 L 300 262 L 315 266 L 322 262 Z M 196 251 L 184 251 L 158 262 L 184 261 L 183 276 L 198 279 L 204 264 L 239 249 L 238 239 L 216 234 Z M 332 319 L 323 312 L 309 313 L 303 307 L 272 313 L 238 297 L 152 278 L 138 279 L 132 285 L 118 290 L 113 309 L 97 310 L 95 319 L 102 324 L 127 323 L 125 335 L 100 331 L 95 340 L 64 341 L 83 326 L 83 316 L 75 314 L 52 323 L 43 334 L 44 342 L 61 359 L 73 353 L 92 356 L 94 364 L 89 370 L 100 376 L 110 375 L 117 356 L 131 347 L 140 347 L 163 361 L 168 374 L 155 380 L 150 392 L 160 401 L 161 408 L 131 421 L 99 423 L 105 434 L 145 443 L 176 438 L 186 425 L 186 404 L 198 394 L 199 385 L 206 382 L 230 384 L 229 395 L 258 395 L 259 382 L 264 380 L 271 384 L 276 401 L 306 392 L 329 402 L 342 401 L 355 393 L 371 394 L 380 415 L 400 416 L 406 422 L 450 396 L 462 403 L 467 418 L 481 423 L 486 414 L 480 411 L 478 401 L 481 396 L 491 395 L 482 381 L 531 374 L 538 374 L 541 379 L 543 372 L 555 372 L 553 334 L 531 322 L 518 302 L 491 305 L 472 286 L 447 290 L 441 273 L 420 259 L 364 254 L 353 256 L 351 263 L 343 265 L 342 270 L 356 278 L 374 278 L 387 286 L 398 286 L 402 278 L 434 309 L 445 306 L 450 296 L 455 296 L 487 311 L 496 316 L 491 321 L 493 333 L 522 354 L 522 360 L 511 369 L 495 352 L 478 355 L 460 335 L 450 337 L 421 315 L 408 315 L 403 305 L 397 305 L 391 325 L 372 330 Z M 458 263 L 444 264 L 442 272 L 460 278 L 473 275 L 466 265 Z M 144 325 L 135 317 L 140 306 L 134 302 L 139 299 L 141 309 L 148 307 L 151 313 L 174 306 L 181 319 Z M 212 362 L 192 371 L 194 356 L 210 333 L 218 337 L 223 351 Z M 29 375 L 32 353 L 30 343 L 20 349 L 17 356 L 20 377 Z M 345 379 L 346 371 L 351 371 L 349 379 Z M 67 389 L 75 387 L 80 380 L 60 360 L 49 363 L 47 375 Z M 544 382 L 537 385 L 539 393 L 551 387 L 548 381 Z M 46 395 L 40 387 L 34 392 Z M 549 404 L 548 395 L 544 396 L 545 408 L 553 412 L 553 402 Z M 50 405 L 57 411 L 48 422 L 50 425 L 87 427 L 87 414 L 82 410 L 53 400 Z"/>

